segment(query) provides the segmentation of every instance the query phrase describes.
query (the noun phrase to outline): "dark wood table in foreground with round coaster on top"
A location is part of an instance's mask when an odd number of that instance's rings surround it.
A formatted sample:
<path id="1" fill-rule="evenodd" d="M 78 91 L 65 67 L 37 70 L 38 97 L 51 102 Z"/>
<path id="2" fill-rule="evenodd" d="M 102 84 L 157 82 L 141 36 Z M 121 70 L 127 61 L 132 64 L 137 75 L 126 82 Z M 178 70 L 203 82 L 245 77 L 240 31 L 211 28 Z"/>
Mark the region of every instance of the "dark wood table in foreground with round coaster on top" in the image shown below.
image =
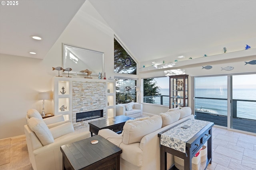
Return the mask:
<path id="1" fill-rule="evenodd" d="M 92 145 L 91 141 L 99 141 Z M 62 145 L 63 170 L 120 170 L 122 149 L 100 135 Z"/>

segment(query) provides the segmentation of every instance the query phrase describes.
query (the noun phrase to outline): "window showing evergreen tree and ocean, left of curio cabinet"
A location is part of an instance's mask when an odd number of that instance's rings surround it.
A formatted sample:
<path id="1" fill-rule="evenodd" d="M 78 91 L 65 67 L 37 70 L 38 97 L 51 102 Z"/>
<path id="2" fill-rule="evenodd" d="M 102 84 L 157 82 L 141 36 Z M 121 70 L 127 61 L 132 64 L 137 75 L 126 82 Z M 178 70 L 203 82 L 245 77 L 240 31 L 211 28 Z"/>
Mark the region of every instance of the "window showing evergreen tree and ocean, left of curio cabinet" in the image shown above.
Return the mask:
<path id="1" fill-rule="evenodd" d="M 169 77 L 144 78 L 143 102 L 169 106 Z"/>

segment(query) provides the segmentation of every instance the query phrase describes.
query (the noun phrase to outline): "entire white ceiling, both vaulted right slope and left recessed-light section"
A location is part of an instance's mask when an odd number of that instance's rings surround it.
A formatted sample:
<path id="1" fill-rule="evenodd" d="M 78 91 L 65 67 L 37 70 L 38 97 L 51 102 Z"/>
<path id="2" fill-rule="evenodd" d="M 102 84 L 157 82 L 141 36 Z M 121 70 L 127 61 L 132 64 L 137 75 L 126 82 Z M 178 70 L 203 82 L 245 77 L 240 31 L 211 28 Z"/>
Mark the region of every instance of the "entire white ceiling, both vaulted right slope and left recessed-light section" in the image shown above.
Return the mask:
<path id="1" fill-rule="evenodd" d="M 20 0 L 18 6 L 1 6 L 0 53 L 43 59 L 84 1 Z M 137 61 L 256 39 L 255 0 L 89 1 Z"/>

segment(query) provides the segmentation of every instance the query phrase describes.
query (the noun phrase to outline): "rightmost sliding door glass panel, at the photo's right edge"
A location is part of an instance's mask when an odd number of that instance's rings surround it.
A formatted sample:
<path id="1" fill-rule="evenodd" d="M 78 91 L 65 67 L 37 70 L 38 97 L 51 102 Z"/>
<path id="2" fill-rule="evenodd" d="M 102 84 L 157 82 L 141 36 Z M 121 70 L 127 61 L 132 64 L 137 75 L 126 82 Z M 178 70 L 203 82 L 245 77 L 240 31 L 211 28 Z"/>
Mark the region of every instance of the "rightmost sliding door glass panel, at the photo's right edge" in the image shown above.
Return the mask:
<path id="1" fill-rule="evenodd" d="M 231 128 L 256 133 L 256 74 L 232 76 Z"/>

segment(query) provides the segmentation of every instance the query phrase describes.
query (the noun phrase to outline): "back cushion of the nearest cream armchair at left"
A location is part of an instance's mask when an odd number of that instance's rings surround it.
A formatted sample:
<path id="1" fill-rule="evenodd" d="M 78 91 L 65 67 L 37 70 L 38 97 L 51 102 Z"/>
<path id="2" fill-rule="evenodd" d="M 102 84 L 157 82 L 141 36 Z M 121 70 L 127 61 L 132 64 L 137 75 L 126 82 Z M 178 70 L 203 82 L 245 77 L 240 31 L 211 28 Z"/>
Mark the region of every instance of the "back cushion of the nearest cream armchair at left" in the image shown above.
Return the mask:
<path id="1" fill-rule="evenodd" d="M 28 119 L 28 127 L 36 134 L 43 146 L 54 142 L 52 133 L 43 120 L 31 117 Z"/>

